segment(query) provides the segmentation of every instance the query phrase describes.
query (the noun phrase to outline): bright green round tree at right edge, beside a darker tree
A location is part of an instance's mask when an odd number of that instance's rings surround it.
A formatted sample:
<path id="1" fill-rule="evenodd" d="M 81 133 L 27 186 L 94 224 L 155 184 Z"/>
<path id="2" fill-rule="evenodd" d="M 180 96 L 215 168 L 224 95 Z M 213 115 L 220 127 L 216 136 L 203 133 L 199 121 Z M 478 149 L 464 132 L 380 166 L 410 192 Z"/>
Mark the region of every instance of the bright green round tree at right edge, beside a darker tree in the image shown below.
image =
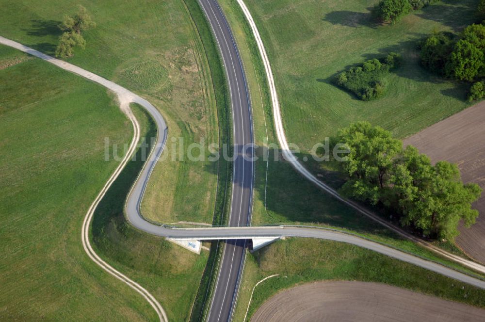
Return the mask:
<path id="1" fill-rule="evenodd" d="M 453 46 L 453 52 L 446 65 L 446 72 L 450 77 L 473 81 L 484 65 L 483 50 L 468 40 L 460 39 Z"/>

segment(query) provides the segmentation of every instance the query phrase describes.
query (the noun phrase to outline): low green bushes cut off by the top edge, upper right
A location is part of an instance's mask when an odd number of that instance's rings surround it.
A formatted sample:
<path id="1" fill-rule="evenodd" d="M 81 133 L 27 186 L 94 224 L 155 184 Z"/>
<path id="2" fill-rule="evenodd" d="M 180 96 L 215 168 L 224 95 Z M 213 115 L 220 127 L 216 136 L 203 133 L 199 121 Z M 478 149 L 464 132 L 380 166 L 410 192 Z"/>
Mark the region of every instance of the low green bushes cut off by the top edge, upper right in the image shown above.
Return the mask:
<path id="1" fill-rule="evenodd" d="M 384 22 L 400 20 L 411 10 L 419 10 L 439 0 L 381 0 L 375 7 L 377 17 Z"/>

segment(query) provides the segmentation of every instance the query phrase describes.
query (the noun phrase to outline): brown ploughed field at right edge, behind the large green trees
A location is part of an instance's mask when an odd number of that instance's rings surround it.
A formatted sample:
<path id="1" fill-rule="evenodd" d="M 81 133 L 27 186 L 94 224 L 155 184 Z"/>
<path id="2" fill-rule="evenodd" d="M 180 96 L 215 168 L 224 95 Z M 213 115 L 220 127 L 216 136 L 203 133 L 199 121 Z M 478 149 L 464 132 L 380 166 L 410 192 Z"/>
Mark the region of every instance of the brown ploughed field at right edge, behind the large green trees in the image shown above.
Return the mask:
<path id="1" fill-rule="evenodd" d="M 464 182 L 476 182 L 485 190 L 485 101 L 436 123 L 404 140 L 431 161 L 455 162 Z M 474 205 L 480 215 L 470 229 L 460 228 L 458 245 L 485 264 L 485 193 Z"/>

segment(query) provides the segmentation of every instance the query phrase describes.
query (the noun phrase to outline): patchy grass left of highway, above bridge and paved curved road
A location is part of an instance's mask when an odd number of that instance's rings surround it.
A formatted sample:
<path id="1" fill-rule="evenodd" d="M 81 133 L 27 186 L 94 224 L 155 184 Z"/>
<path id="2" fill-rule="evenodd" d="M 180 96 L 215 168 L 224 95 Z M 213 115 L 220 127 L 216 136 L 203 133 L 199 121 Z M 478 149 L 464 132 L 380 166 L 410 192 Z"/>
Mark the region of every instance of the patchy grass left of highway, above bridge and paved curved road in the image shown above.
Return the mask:
<path id="1" fill-rule="evenodd" d="M 86 49 L 76 50 L 69 61 L 148 98 L 167 120 L 168 148 L 172 137 L 183 137 L 185 146 L 201 137 L 217 143 L 209 69 L 183 1 L 62 0 L 39 6 L 33 0 L 0 0 L 5 17 L 0 34 L 52 54 L 56 25 L 78 3 L 91 12 L 97 27 L 85 32 Z M 187 159 L 160 162 L 144 198 L 144 215 L 164 223 L 210 223 L 216 168 L 217 163 Z"/>

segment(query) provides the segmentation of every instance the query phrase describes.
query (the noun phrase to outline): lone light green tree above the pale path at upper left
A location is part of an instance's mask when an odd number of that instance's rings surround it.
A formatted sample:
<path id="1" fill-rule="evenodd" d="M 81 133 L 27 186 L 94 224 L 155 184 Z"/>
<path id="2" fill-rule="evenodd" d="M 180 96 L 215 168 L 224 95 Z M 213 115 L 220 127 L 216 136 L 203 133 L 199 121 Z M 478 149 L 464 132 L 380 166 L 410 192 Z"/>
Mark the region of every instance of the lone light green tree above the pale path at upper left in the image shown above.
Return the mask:
<path id="1" fill-rule="evenodd" d="M 96 23 L 89 16 L 86 8 L 79 5 L 78 13 L 74 16 L 64 16 L 64 20 L 59 26 L 63 34 L 59 37 L 55 55 L 59 58 L 69 58 L 74 55 L 74 47 L 82 49 L 86 47 L 86 41 L 81 32 L 89 28 L 96 27 Z"/>

